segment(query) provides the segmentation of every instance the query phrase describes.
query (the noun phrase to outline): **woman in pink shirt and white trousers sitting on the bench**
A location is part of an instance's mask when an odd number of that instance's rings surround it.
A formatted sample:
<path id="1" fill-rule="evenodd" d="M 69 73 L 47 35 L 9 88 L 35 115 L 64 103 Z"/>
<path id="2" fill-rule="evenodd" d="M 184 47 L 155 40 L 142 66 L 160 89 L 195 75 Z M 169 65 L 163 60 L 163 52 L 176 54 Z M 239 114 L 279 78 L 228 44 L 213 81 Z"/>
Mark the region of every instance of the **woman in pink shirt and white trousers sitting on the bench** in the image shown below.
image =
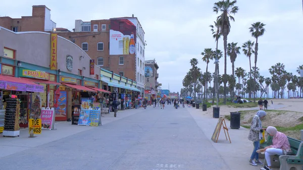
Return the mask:
<path id="1" fill-rule="evenodd" d="M 270 156 L 275 154 L 283 155 L 284 153 L 291 152 L 291 149 L 287 136 L 284 133 L 278 132 L 277 129 L 272 126 L 267 127 L 266 132 L 270 136 L 273 136 L 273 144 L 265 147 L 264 149 L 260 149 L 257 152 L 265 151 L 265 159 L 267 161 L 268 166 L 265 165 L 261 169 L 272 170 Z"/>

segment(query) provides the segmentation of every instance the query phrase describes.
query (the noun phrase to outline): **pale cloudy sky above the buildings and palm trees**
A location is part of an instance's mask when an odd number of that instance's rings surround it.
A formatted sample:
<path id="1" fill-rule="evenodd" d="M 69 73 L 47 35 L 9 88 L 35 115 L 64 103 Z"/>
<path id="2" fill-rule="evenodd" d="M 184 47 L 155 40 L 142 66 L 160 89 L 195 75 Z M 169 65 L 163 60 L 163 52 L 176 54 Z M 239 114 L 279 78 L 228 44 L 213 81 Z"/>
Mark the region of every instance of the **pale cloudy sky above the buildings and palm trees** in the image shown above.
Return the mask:
<path id="1" fill-rule="evenodd" d="M 134 14 L 141 23 L 147 46 L 145 60 L 156 59 L 159 65 L 159 83 L 162 89 L 180 92 L 182 80 L 190 69 L 190 59 L 198 59 L 198 67 L 206 71 L 206 63 L 201 58 L 205 48 L 216 48 L 209 25 L 219 14 L 213 12 L 211 0 L 155 0 L 155 1 L 79 1 L 79 0 L 15 0 L 1 2 L 0 16 L 20 18 L 31 16 L 33 5 L 45 5 L 51 9 L 51 19 L 57 27 L 72 30 L 75 20 L 82 21 L 131 17 Z M 303 13 L 302 1 L 255 0 L 238 1 L 239 11 L 231 22 L 229 42 L 242 46 L 247 40 L 255 41 L 249 33 L 252 23 L 266 24 L 264 36 L 258 39 L 259 52 L 257 67 L 264 77 L 270 77 L 268 69 L 276 63 L 283 63 L 285 70 L 298 75 L 295 70 L 303 65 L 301 51 Z M 219 40 L 219 49 L 223 49 L 223 39 Z M 215 71 L 214 62 L 210 62 L 209 71 Z M 254 63 L 252 56 L 251 64 Z M 248 58 L 237 56 L 235 68 L 249 70 Z M 224 73 L 224 59 L 220 60 L 220 74 Z M 231 63 L 227 56 L 227 73 L 231 74 Z"/>

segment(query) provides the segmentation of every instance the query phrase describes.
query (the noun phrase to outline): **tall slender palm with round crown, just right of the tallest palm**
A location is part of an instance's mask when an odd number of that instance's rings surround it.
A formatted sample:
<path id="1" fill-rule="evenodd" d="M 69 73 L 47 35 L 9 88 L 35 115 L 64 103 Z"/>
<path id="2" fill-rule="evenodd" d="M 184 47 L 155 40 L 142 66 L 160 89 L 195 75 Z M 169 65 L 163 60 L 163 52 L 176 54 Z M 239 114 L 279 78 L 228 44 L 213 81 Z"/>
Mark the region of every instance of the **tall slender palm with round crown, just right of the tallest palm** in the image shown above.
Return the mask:
<path id="1" fill-rule="evenodd" d="M 264 35 L 265 24 L 261 22 L 256 22 L 254 24 L 251 24 L 251 27 L 249 28 L 249 32 L 251 33 L 252 37 L 256 38 L 256 45 L 255 45 L 255 83 L 256 83 L 256 68 L 257 68 L 257 59 L 258 59 L 258 38 Z M 254 90 L 254 102 L 256 102 L 256 86 Z"/>

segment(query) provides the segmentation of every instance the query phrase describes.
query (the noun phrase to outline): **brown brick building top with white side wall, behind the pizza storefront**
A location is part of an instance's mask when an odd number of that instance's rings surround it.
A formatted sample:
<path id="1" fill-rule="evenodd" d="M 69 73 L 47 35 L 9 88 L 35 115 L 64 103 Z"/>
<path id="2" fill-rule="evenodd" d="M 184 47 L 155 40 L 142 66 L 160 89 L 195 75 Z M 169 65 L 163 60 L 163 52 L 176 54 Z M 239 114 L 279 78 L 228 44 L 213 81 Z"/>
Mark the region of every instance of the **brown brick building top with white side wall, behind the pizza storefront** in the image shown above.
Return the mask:
<path id="1" fill-rule="evenodd" d="M 0 17 L 0 26 L 14 32 L 52 31 L 56 23 L 51 20 L 51 10 L 46 6 L 32 6 L 32 16 L 21 18 Z"/>

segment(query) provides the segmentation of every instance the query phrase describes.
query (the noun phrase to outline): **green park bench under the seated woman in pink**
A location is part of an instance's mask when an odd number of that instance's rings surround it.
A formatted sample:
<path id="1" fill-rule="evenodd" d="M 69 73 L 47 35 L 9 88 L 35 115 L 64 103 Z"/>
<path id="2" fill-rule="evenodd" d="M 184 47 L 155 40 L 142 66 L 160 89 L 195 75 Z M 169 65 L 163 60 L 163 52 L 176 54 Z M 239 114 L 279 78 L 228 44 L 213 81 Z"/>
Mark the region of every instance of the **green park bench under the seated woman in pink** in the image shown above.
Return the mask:
<path id="1" fill-rule="evenodd" d="M 294 155 L 273 155 L 271 156 L 272 167 L 279 167 L 280 170 L 289 170 L 292 167 L 297 170 L 303 166 L 303 142 L 290 137 L 287 137 L 290 148 Z M 260 144 L 260 148 L 265 148 L 273 144 L 273 137 L 268 135 L 267 141 Z M 263 165 L 266 165 L 266 160 Z"/>

